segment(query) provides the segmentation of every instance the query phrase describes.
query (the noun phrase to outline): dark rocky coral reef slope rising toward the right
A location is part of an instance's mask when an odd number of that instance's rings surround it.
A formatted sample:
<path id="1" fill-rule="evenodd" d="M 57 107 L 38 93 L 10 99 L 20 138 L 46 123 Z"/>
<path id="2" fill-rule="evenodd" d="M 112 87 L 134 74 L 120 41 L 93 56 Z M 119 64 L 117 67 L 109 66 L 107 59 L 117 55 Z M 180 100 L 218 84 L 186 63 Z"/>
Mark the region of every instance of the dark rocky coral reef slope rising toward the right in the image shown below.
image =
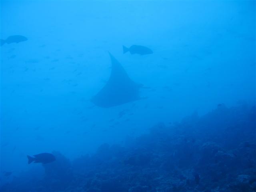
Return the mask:
<path id="1" fill-rule="evenodd" d="M 160 123 L 125 146 L 103 144 L 72 163 L 53 152 L 56 162 L 44 165 L 43 179 L 20 175 L 1 191 L 253 192 L 255 128 L 255 107 L 221 105 Z"/>

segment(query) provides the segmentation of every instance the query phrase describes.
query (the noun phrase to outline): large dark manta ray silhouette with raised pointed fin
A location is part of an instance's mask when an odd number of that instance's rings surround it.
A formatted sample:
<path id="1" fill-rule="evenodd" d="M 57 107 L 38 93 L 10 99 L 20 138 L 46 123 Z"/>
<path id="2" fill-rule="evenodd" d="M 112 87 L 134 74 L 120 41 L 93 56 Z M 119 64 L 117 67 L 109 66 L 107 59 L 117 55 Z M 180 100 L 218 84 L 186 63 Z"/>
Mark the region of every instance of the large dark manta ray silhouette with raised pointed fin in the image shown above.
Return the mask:
<path id="1" fill-rule="evenodd" d="M 141 99 L 139 88 L 142 85 L 132 81 L 116 58 L 109 55 L 112 62 L 110 78 L 91 101 L 96 106 L 108 108 Z"/>

